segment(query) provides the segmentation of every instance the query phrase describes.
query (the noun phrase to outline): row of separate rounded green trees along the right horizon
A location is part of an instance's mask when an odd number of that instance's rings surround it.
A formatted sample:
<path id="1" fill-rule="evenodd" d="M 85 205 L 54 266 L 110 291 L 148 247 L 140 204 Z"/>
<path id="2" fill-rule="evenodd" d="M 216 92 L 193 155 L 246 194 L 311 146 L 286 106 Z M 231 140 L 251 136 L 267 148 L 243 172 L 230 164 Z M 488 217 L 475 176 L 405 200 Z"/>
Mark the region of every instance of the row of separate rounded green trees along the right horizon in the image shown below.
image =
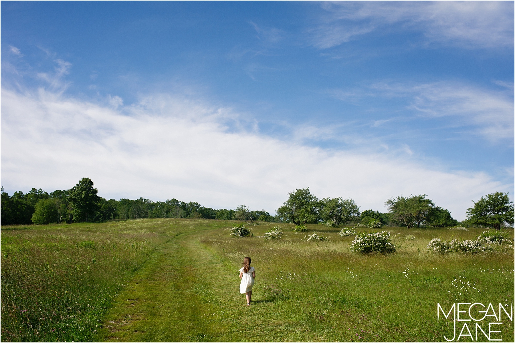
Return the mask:
<path id="1" fill-rule="evenodd" d="M 323 198 L 311 194 L 310 188 L 301 188 L 288 194 L 288 200 L 277 210 L 279 221 L 293 222 L 297 226 L 325 222 L 330 226 L 358 223 L 371 228 L 388 226 L 452 227 L 481 226 L 499 230 L 513 225 L 513 202 L 508 193 L 495 192 L 481 197 L 467 209 L 467 219 L 458 222 L 451 211 L 437 206 L 426 194 L 398 196 L 385 201 L 388 213 L 359 211 L 353 199 Z"/>

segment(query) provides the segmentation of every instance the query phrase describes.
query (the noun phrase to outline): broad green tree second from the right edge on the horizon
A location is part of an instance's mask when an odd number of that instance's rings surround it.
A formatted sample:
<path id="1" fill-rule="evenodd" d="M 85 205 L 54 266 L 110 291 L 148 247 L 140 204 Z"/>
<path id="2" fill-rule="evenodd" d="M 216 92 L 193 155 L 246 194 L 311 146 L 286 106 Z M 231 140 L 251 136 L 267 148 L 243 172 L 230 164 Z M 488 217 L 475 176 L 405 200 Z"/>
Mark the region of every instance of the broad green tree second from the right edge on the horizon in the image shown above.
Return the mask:
<path id="1" fill-rule="evenodd" d="M 428 213 L 434 205 L 433 201 L 425 197 L 425 194 L 411 195 L 409 198 L 401 195 L 397 199 L 391 198 L 386 200 L 385 204 L 390 211 L 391 218 L 402 222 L 410 229 L 415 224 L 417 224 L 417 227 L 424 224 Z"/>

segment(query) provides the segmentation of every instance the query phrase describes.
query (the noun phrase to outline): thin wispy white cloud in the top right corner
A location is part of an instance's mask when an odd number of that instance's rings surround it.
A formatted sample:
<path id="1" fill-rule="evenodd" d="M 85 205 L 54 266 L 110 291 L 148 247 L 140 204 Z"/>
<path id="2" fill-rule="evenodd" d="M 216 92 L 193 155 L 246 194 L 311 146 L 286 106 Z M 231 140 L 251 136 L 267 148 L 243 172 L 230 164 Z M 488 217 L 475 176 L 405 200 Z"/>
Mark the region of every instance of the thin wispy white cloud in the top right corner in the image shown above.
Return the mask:
<path id="1" fill-rule="evenodd" d="M 338 2 L 313 30 L 313 45 L 329 48 L 373 30 L 423 32 L 427 42 L 467 48 L 513 45 L 513 2 Z"/>

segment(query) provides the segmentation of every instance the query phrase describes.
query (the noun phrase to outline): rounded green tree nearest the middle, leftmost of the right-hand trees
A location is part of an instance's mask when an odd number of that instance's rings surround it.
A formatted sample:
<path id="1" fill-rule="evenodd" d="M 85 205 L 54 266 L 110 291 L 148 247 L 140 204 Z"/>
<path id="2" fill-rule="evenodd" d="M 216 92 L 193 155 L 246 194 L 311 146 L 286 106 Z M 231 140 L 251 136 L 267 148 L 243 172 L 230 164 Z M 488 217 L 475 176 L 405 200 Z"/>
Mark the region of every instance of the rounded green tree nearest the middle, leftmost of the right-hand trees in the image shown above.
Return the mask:
<path id="1" fill-rule="evenodd" d="M 319 201 L 310 193 L 310 187 L 288 193 L 288 196 L 288 200 L 277 210 L 279 218 L 295 225 L 316 224 L 319 221 Z"/>

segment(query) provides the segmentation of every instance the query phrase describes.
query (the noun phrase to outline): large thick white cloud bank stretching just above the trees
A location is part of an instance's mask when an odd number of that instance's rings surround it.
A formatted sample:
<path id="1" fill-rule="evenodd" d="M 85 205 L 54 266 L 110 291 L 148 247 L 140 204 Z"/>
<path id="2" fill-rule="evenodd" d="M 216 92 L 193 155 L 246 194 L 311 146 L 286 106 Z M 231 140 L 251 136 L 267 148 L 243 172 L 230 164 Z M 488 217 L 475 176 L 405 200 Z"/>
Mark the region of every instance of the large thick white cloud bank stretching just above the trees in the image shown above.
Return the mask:
<path id="1" fill-rule="evenodd" d="M 66 189 L 90 177 L 101 196 L 177 198 L 273 212 L 296 188 L 384 211 L 392 196 L 427 194 L 458 219 L 472 199 L 511 190 L 485 173 L 432 170 L 405 155 L 306 147 L 231 132 L 226 109 L 172 96 L 115 109 L 40 90 L 2 90 L 2 184 Z"/>

